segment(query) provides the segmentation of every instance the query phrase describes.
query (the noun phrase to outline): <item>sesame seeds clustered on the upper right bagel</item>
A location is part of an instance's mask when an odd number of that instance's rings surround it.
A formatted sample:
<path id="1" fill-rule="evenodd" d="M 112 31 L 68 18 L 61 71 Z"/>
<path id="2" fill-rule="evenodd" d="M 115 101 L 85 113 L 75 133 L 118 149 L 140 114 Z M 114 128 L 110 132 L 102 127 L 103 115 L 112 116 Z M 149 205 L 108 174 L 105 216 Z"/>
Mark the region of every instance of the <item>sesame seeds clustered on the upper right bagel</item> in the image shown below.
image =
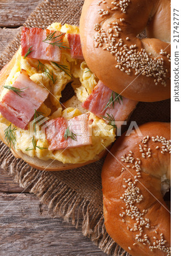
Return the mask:
<path id="1" fill-rule="evenodd" d="M 120 1 L 119 3 L 117 3 L 116 1 L 112 2 L 112 5 L 114 6 L 111 10 L 117 10 L 118 7 L 121 7 L 121 11 L 123 13 L 126 12 L 128 3 L 130 1 L 129 0 L 123 0 Z M 106 3 L 106 1 L 103 1 L 103 3 Z M 100 14 L 100 16 L 103 15 L 108 15 L 108 10 L 104 10 L 104 9 L 99 9 L 98 13 Z M 124 19 L 120 19 L 120 22 L 123 22 Z M 121 31 L 121 28 L 118 26 L 117 22 L 113 22 L 112 24 L 116 24 L 116 27 L 114 27 L 116 34 L 111 35 L 106 39 L 106 43 L 110 42 L 115 42 L 116 37 L 119 37 L 119 32 Z M 111 23 L 109 23 L 109 26 L 111 26 Z M 94 39 L 96 40 L 96 42 L 99 43 L 99 41 L 101 42 L 102 40 L 102 34 L 105 31 L 98 31 L 98 34 L 96 34 L 96 36 L 94 37 Z M 127 37 L 128 40 L 128 37 Z M 122 40 L 123 42 L 123 40 Z M 116 52 L 120 52 L 120 55 L 122 55 L 123 50 L 118 50 L 118 47 L 120 47 L 122 45 L 122 42 L 117 45 L 117 51 L 110 51 L 109 49 L 107 49 L 107 51 L 111 52 L 111 55 L 116 55 Z M 98 46 L 96 47 L 101 47 L 102 45 L 98 44 Z M 124 49 L 126 52 L 124 52 L 125 54 L 123 54 L 123 59 L 121 60 L 121 63 L 119 64 L 119 66 L 117 66 L 117 64 L 115 65 L 116 68 L 119 68 L 121 72 L 125 72 L 127 71 L 127 75 L 131 75 L 131 71 L 129 71 L 129 69 L 134 69 L 135 67 L 137 67 L 136 72 L 134 72 L 135 75 L 141 74 L 143 76 L 157 76 L 157 79 L 154 79 L 155 85 L 158 84 L 158 82 L 160 82 L 162 85 L 166 86 L 166 82 L 164 80 L 164 78 L 166 77 L 166 73 L 168 71 L 166 71 L 163 68 L 163 58 L 157 58 L 157 59 L 151 59 L 150 57 L 150 53 L 146 53 L 145 49 L 141 49 L 141 51 L 136 52 L 136 44 L 127 47 L 127 44 L 124 44 Z M 104 47 L 105 49 L 105 47 Z M 135 51 L 129 51 L 129 49 L 135 49 Z M 164 52 L 162 52 L 164 53 Z M 165 53 L 164 53 L 165 54 Z M 137 56 L 139 56 L 139 58 L 137 58 Z M 117 56 L 116 56 L 117 57 Z M 170 59 L 170 55 L 167 55 L 167 57 Z M 140 59 L 143 60 L 140 62 Z M 123 69 L 123 66 L 125 66 L 125 62 L 127 62 L 126 67 L 127 69 Z"/>

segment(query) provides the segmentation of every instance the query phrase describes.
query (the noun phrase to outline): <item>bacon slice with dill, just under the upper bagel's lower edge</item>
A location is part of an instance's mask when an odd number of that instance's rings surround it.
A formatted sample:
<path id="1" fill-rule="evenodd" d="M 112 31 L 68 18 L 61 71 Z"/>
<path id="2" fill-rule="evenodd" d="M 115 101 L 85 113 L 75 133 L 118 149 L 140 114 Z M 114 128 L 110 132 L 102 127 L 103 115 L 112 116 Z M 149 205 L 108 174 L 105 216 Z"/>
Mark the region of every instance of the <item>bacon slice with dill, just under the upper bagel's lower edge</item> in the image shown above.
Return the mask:
<path id="1" fill-rule="evenodd" d="M 123 102 L 120 100 L 121 104 L 114 101 L 114 108 L 110 104 L 110 106 L 104 109 L 110 100 L 111 94 L 112 90 L 104 85 L 103 82 L 99 81 L 93 92 L 82 104 L 82 107 L 101 118 L 103 118 L 102 116 L 107 117 L 108 113 L 109 115 L 113 115 L 115 121 L 125 121 L 134 108 L 136 108 L 138 101 L 122 97 Z"/>

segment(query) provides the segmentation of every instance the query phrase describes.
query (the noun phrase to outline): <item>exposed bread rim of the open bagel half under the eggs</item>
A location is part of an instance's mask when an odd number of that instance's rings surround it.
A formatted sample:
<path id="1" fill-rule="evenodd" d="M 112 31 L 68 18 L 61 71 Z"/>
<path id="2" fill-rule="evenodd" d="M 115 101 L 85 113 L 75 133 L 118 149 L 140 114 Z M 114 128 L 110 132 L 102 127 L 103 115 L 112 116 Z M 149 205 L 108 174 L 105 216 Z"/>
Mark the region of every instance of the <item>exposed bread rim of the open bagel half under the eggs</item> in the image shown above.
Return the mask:
<path id="1" fill-rule="evenodd" d="M 3 67 L 3 69 L 0 72 L 0 93 L 2 92 L 2 89 L 3 89 L 2 86 L 5 85 L 6 79 L 9 76 L 12 67 L 14 67 L 15 60 L 16 60 L 16 53 L 12 57 L 11 61 L 8 64 L 6 64 L 5 67 Z M 69 102 L 69 104 L 71 104 L 71 102 Z M 70 105 L 68 105 L 68 106 L 70 106 Z M 5 135 L 4 135 L 4 130 L 6 128 L 7 128 L 6 125 L 4 125 L 3 123 L 0 123 L 0 139 L 5 144 L 7 144 L 5 141 Z M 81 166 L 85 166 L 86 164 L 96 162 L 97 160 L 99 160 L 106 154 L 106 150 L 103 150 L 102 152 L 100 152 L 99 155 L 96 155 L 95 159 L 90 160 L 88 162 L 79 163 L 79 164 L 69 164 L 69 163 L 64 164 L 58 160 L 49 159 L 49 160 L 45 161 L 45 160 L 41 160 L 37 157 L 31 158 L 30 156 L 24 154 L 22 151 L 20 151 L 20 150 L 15 151 L 12 148 L 11 148 L 11 152 L 12 152 L 12 154 L 14 154 L 14 156 L 16 158 L 21 158 L 25 162 L 30 164 L 30 166 L 37 168 L 39 170 L 42 170 L 42 171 L 44 171 L 44 170 L 46 170 L 46 171 L 63 171 L 63 170 L 78 168 Z"/>

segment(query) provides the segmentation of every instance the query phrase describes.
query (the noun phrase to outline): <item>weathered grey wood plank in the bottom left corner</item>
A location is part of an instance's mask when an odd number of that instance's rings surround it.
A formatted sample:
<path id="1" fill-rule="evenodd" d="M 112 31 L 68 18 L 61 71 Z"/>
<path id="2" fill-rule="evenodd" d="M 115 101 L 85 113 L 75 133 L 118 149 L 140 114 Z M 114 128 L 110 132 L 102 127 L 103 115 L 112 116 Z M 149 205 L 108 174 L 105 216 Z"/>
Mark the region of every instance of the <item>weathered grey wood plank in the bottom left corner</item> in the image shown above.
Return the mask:
<path id="1" fill-rule="evenodd" d="M 0 193 L 0 205 L 1 256 L 106 255 L 80 229 L 54 217 L 34 195 Z"/>

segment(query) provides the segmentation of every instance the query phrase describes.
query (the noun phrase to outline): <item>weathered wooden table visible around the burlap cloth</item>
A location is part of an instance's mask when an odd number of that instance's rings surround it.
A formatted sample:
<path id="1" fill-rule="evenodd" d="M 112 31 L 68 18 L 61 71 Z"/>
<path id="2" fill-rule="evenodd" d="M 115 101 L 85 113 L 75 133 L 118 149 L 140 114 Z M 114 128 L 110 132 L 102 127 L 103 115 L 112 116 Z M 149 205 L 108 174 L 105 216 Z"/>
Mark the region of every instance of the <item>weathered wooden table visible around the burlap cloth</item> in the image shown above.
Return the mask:
<path id="1" fill-rule="evenodd" d="M 72 0 L 73 1 L 73 0 Z M 0 53 L 39 0 L 0 1 Z M 0 169 L 0 255 L 106 255 Z M 15 200 L 15 201 L 14 201 Z M 10 204 L 10 205 L 9 205 Z M 6 207 L 9 207 L 6 209 Z"/>

